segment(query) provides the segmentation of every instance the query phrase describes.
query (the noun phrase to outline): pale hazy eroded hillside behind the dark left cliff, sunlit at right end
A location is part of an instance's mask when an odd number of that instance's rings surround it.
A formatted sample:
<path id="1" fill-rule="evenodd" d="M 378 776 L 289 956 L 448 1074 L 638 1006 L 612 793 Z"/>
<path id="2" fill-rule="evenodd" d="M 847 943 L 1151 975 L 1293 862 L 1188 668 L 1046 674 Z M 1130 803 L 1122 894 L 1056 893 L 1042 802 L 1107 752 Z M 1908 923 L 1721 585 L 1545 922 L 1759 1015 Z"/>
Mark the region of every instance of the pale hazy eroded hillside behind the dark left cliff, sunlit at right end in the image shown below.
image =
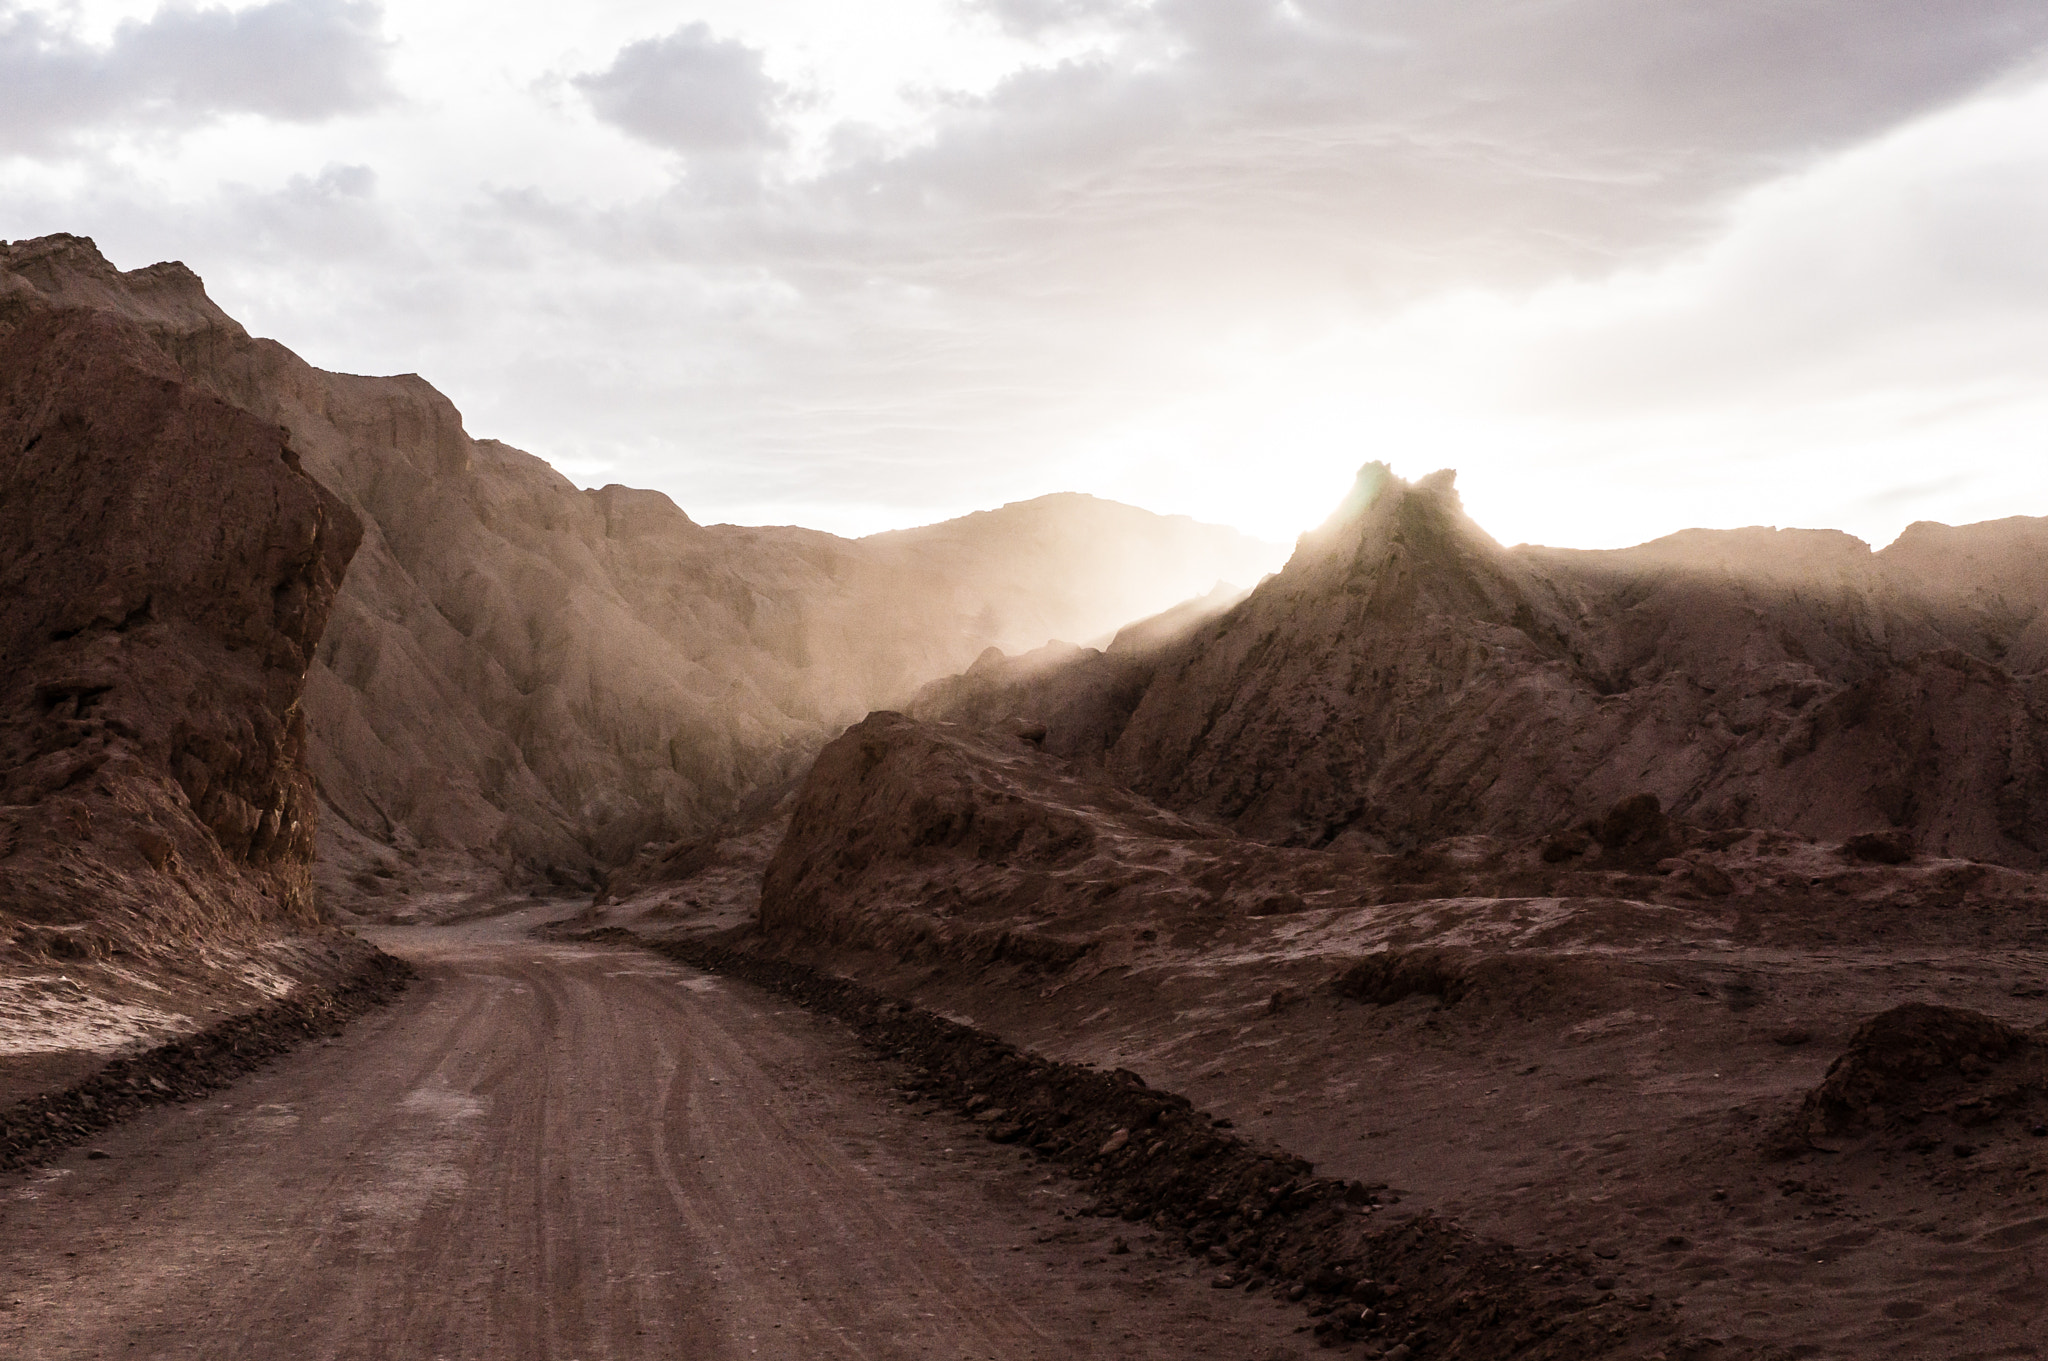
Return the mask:
<path id="1" fill-rule="evenodd" d="M 0 248 L 0 309 L 51 305 L 139 325 L 186 381 L 289 430 L 362 520 L 305 704 L 340 905 L 475 886 L 479 866 L 590 882 L 987 647 L 1090 641 L 1272 565 L 1235 532 L 1071 495 L 866 540 L 702 526 L 473 440 L 418 377 L 324 372 L 248 336 L 184 266 L 119 272 L 82 237 Z"/>

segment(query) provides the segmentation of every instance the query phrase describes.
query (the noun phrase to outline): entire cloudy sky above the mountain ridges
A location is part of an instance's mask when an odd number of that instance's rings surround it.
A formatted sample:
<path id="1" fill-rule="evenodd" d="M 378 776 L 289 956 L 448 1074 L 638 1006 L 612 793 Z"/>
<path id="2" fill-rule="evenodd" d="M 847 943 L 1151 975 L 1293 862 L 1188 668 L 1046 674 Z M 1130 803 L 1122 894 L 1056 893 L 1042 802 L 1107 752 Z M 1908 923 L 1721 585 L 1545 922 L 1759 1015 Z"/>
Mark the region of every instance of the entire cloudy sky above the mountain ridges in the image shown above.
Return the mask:
<path id="1" fill-rule="evenodd" d="M 2048 516 L 2040 0 L 0 0 L 0 237 L 702 522 Z"/>

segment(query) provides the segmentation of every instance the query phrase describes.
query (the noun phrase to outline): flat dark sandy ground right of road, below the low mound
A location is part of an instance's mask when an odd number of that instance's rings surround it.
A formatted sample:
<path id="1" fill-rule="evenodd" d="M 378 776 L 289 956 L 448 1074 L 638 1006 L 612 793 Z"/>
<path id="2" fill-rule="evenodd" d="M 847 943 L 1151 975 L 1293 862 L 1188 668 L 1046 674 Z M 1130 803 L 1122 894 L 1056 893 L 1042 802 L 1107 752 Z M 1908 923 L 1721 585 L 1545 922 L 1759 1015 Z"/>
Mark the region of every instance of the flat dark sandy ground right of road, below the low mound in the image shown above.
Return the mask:
<path id="1" fill-rule="evenodd" d="M 1602 917 L 1581 913 L 1595 935 Z M 1884 1007 L 2040 1027 L 2048 952 L 1679 935 L 1577 939 L 1540 956 L 1563 970 L 1542 986 L 1458 1005 L 1341 1001 L 1317 986 L 1319 956 L 1204 954 L 1063 986 L 831 962 L 1044 1054 L 1130 1066 L 1323 1175 L 1391 1183 L 1407 1210 L 1587 1250 L 1610 1287 L 1675 1302 L 1698 1355 L 2048 1355 L 2048 1103 L 1772 1146 Z"/>

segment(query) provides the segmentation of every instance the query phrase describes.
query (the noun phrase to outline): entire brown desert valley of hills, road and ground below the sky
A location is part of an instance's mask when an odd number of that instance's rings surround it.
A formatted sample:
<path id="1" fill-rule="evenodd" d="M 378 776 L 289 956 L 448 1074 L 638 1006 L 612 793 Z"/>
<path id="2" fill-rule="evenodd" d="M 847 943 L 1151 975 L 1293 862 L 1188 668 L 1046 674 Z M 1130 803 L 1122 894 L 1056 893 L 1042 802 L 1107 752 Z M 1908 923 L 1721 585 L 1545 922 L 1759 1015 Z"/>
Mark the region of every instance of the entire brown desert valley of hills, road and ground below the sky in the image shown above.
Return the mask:
<path id="1" fill-rule="evenodd" d="M 0 246 L 0 1351 L 2040 1355 L 2048 518 L 686 510 Z"/>

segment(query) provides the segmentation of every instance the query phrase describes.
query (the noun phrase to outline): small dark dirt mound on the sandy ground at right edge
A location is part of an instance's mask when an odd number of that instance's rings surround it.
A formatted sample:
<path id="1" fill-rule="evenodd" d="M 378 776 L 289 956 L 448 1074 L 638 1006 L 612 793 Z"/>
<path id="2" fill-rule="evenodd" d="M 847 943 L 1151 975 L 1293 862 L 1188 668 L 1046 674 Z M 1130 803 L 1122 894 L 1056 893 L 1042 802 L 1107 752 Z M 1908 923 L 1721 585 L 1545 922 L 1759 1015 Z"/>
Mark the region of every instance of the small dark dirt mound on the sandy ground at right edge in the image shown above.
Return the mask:
<path id="1" fill-rule="evenodd" d="M 1907 1003 L 1866 1021 L 1800 1107 L 1798 1128 L 1841 1134 L 1888 1115 L 1917 1117 L 1939 1079 L 1976 1079 L 2040 1044 L 1980 1011 Z"/>

